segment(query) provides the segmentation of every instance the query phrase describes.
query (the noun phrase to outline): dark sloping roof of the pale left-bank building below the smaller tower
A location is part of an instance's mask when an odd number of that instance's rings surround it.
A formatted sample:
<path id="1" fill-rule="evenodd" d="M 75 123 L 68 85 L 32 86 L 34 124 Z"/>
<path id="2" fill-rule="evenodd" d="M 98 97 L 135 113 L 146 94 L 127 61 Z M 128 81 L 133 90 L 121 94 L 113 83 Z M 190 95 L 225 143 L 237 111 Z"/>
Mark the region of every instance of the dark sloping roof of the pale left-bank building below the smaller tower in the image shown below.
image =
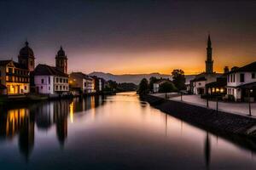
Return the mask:
<path id="1" fill-rule="evenodd" d="M 49 65 L 38 65 L 34 71 L 35 76 L 60 76 L 60 77 L 68 77 L 67 74 L 58 70 L 56 67 L 49 66 Z"/>

